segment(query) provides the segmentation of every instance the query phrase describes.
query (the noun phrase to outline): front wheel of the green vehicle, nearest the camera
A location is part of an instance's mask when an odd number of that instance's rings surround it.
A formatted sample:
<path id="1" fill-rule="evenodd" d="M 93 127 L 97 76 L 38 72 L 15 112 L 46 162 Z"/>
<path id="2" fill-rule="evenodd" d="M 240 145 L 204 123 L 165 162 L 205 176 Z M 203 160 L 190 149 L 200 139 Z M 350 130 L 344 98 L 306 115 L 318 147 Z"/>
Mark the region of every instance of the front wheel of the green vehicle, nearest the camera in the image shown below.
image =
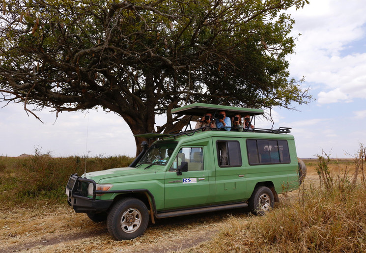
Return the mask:
<path id="1" fill-rule="evenodd" d="M 148 222 L 146 205 L 140 199 L 127 197 L 112 207 L 107 218 L 107 228 L 116 240 L 130 240 L 141 236 Z"/>

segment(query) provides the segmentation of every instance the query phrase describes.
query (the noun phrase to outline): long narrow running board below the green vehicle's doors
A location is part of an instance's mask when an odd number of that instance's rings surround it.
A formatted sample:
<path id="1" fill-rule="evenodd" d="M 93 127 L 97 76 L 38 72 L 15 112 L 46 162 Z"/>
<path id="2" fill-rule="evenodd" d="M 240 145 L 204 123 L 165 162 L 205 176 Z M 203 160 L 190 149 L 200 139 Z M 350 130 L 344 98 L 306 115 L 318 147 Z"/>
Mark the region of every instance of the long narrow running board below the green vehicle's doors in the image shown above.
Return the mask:
<path id="1" fill-rule="evenodd" d="M 228 204 L 228 205 L 202 207 L 202 208 L 189 209 L 189 210 L 158 213 L 158 214 L 155 214 L 155 216 L 156 216 L 156 218 L 161 219 L 161 218 L 176 217 L 176 216 L 182 216 L 182 215 L 215 212 L 215 211 L 221 211 L 221 210 L 226 210 L 226 209 L 244 208 L 244 207 L 248 207 L 248 204 L 247 203 L 236 203 L 236 204 Z"/>

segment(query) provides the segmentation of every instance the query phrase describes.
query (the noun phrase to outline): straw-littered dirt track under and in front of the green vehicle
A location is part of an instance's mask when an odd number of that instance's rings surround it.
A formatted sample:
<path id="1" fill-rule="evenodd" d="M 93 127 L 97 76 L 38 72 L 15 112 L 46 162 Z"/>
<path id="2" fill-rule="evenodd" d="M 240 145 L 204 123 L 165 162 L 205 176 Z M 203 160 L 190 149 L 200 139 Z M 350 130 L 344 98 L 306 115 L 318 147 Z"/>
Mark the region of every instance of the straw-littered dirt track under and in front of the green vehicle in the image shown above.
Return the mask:
<path id="1" fill-rule="evenodd" d="M 139 238 L 117 242 L 105 223 L 95 224 L 66 205 L 15 209 L 0 215 L 0 253 L 184 251 L 210 240 L 230 215 L 251 218 L 241 210 L 169 218 L 149 224 Z"/>

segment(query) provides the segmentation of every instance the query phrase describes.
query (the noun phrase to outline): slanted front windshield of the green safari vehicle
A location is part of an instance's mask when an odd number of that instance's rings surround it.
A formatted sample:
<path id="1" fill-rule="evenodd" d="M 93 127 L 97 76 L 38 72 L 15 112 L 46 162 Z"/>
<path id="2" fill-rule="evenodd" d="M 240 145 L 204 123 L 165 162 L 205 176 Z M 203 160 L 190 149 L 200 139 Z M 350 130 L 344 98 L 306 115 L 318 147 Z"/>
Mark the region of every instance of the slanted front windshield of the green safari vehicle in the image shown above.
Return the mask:
<path id="1" fill-rule="evenodd" d="M 177 142 L 160 142 L 153 144 L 140 160 L 140 164 L 166 165 Z"/>

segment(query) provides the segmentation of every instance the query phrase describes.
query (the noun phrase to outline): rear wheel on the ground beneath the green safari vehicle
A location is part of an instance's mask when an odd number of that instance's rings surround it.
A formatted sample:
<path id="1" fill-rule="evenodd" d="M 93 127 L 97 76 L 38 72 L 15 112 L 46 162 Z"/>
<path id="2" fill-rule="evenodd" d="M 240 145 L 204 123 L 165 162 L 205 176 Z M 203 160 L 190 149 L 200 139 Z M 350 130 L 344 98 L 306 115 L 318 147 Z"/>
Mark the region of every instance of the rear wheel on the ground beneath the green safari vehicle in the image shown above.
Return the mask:
<path id="1" fill-rule="evenodd" d="M 254 189 L 248 205 L 253 214 L 264 215 L 274 204 L 275 197 L 272 191 L 268 187 L 260 186 Z"/>

